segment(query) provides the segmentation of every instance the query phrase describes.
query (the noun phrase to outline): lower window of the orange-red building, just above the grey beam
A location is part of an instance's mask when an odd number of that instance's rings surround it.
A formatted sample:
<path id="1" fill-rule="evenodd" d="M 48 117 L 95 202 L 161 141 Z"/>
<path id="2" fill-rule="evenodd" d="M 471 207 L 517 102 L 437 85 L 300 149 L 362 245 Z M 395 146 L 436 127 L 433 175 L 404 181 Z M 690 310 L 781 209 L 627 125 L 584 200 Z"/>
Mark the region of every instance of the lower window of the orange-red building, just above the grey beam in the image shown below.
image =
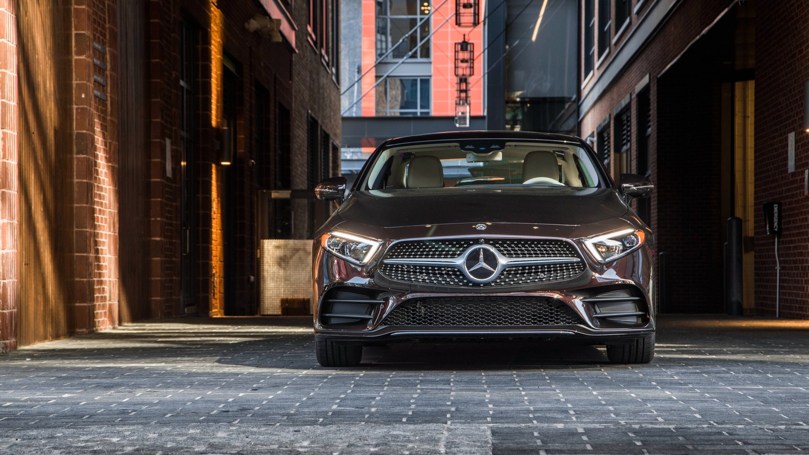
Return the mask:
<path id="1" fill-rule="evenodd" d="M 388 78 L 376 87 L 377 116 L 429 116 L 430 78 Z"/>

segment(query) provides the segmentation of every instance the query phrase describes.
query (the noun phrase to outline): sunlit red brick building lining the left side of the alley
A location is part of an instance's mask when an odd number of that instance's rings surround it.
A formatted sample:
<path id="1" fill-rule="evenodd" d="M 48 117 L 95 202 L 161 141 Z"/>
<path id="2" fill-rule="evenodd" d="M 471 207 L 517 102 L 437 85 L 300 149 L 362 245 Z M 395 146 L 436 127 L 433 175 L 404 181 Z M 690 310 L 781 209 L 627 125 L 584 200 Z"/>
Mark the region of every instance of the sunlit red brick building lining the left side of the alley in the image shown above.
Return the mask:
<path id="1" fill-rule="evenodd" d="M 0 351 L 257 313 L 262 195 L 339 168 L 337 10 L 0 2 Z"/>

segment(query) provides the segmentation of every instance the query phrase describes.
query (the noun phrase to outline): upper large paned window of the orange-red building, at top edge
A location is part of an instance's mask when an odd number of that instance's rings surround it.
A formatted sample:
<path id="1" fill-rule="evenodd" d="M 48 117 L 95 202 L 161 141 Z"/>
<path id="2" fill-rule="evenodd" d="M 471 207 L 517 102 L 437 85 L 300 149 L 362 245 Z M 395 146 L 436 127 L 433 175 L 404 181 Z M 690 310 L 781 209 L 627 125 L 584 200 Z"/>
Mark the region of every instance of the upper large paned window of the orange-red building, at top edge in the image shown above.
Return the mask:
<path id="1" fill-rule="evenodd" d="M 393 49 L 388 58 L 404 58 L 430 36 L 430 19 L 418 26 L 419 21 L 430 14 L 430 8 L 421 8 L 421 3 L 420 0 L 376 0 L 376 57 L 382 57 L 414 28 L 416 30 Z M 425 43 L 410 57 L 430 58 L 430 44 Z"/>

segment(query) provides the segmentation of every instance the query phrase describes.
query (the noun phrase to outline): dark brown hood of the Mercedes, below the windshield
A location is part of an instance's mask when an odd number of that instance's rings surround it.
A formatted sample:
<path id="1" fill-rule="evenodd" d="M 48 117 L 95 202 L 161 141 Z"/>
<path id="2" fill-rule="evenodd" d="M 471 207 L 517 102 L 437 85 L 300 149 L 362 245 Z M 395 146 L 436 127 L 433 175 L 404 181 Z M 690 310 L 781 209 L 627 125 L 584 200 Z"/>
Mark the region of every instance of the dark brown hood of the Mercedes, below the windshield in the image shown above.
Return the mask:
<path id="1" fill-rule="evenodd" d="M 354 191 L 337 215 L 383 228 L 452 223 L 531 223 L 578 226 L 621 217 L 613 189 L 505 187 Z"/>

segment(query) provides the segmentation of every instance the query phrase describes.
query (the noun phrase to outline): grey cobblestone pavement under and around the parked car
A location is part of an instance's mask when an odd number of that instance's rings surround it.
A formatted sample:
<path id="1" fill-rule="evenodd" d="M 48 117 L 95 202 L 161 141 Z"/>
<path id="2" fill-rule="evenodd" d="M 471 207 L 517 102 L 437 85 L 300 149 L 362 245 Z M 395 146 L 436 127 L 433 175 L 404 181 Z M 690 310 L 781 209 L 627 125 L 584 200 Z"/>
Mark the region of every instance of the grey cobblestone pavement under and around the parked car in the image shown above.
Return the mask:
<path id="1" fill-rule="evenodd" d="M 306 318 L 182 318 L 0 355 L 0 453 L 801 453 L 809 321 L 659 319 L 652 364 L 423 343 L 321 368 Z"/>

